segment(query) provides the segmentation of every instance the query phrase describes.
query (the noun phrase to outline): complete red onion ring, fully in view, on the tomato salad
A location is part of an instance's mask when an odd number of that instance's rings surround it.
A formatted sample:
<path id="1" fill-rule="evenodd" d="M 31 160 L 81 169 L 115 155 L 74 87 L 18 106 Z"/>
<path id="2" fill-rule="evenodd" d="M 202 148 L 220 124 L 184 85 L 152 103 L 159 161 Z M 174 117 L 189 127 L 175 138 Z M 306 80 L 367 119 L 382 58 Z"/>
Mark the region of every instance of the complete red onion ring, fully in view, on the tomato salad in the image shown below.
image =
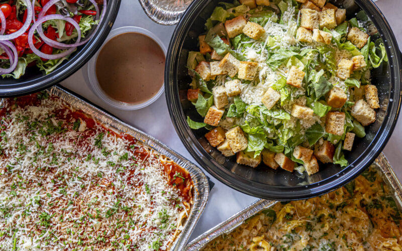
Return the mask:
<path id="1" fill-rule="evenodd" d="M 29 34 L 28 34 L 29 47 L 31 47 L 31 50 L 41 58 L 46 58 L 46 59 L 62 58 L 62 57 L 65 57 L 65 56 L 69 55 L 70 53 L 72 53 L 76 48 L 76 47 L 72 47 L 72 48 L 70 48 L 70 49 L 68 49 L 68 50 L 66 50 L 66 51 L 64 51 L 62 53 L 51 54 L 51 55 L 50 54 L 45 54 L 45 53 L 39 51 L 38 49 L 36 49 L 36 47 L 34 46 L 34 42 L 33 42 L 33 36 L 34 36 L 35 30 L 37 29 L 38 26 L 42 25 L 42 23 L 44 23 L 44 22 L 46 22 L 48 20 L 52 20 L 52 19 L 61 19 L 61 20 L 65 20 L 67 22 L 70 22 L 75 27 L 75 29 L 77 29 L 77 31 L 78 31 L 78 37 L 77 37 L 76 42 L 79 42 L 81 40 L 81 32 L 79 30 L 79 25 L 72 18 L 67 18 L 67 17 L 64 17 L 62 15 L 58 15 L 58 14 L 53 14 L 53 15 L 48 15 L 48 16 L 42 17 L 42 18 L 38 19 L 35 24 L 32 25 L 31 29 L 29 30 Z"/>

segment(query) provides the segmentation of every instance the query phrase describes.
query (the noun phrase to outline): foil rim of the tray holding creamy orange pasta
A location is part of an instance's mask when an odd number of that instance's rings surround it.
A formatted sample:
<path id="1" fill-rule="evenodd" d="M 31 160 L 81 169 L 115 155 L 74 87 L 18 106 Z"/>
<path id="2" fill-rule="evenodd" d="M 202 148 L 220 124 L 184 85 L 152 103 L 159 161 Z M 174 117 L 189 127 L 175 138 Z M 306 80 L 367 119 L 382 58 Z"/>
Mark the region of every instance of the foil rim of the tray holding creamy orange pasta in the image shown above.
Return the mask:
<path id="1" fill-rule="evenodd" d="M 380 154 L 380 156 L 375 160 L 372 164 L 375 168 L 379 169 L 383 174 L 383 180 L 386 184 L 389 185 L 391 191 L 393 191 L 393 198 L 399 208 L 402 209 L 402 184 L 396 177 L 395 173 L 392 170 L 391 165 L 386 159 L 384 154 Z M 233 231 L 236 227 L 240 226 L 244 223 L 245 220 L 251 218 L 255 214 L 260 211 L 270 208 L 274 206 L 279 201 L 273 200 L 264 200 L 260 199 L 253 202 L 248 207 L 244 208 L 240 212 L 234 214 L 229 219 L 223 221 L 222 223 L 216 225 L 205 233 L 199 235 L 197 238 L 189 242 L 184 250 L 192 251 L 192 250 L 200 250 L 204 248 L 209 242 L 214 240 L 216 237 L 220 236 L 223 233 L 229 233 Z"/>

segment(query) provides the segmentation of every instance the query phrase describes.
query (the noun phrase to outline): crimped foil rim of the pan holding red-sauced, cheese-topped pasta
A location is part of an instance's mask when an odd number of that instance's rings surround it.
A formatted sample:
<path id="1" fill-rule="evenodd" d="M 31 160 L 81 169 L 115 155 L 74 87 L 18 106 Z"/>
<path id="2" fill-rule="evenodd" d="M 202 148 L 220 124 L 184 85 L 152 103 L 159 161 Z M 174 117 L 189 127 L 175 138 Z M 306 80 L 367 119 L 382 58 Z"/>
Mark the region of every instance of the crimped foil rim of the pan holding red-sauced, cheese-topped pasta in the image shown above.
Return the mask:
<path id="1" fill-rule="evenodd" d="M 118 133 L 131 135 L 135 139 L 143 142 L 145 145 L 149 146 L 160 154 L 163 154 L 169 159 L 173 160 L 190 173 L 192 181 L 194 182 L 194 203 L 191 208 L 190 214 L 188 215 L 188 218 L 183 225 L 181 233 L 177 236 L 176 240 L 170 248 L 171 251 L 183 250 L 192 230 L 194 229 L 195 224 L 197 223 L 199 217 L 201 216 L 201 213 L 204 211 L 205 206 L 207 205 L 210 190 L 208 179 L 203 171 L 201 171 L 198 167 L 196 167 L 194 164 L 186 160 L 175 151 L 171 150 L 166 145 L 160 143 L 152 136 L 144 134 L 138 129 L 133 128 L 129 124 L 117 119 L 109 113 L 93 106 L 92 104 L 89 104 L 88 102 L 64 90 L 63 88 L 54 86 L 47 89 L 47 91 L 53 95 L 60 97 L 71 106 L 74 106 L 92 116 L 93 119 L 102 123 L 107 128 Z"/>

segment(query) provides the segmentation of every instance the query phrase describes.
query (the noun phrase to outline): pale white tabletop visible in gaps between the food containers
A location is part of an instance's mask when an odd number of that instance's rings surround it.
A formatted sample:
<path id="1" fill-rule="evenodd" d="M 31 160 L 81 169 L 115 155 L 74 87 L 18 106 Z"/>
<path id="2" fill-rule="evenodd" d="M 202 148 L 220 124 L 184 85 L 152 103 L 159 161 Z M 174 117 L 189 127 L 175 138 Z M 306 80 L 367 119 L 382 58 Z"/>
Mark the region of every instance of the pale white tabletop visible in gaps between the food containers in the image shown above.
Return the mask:
<path id="1" fill-rule="evenodd" d="M 393 33 L 398 40 L 399 48 L 402 49 L 402 15 L 400 13 L 400 10 L 402 10 L 402 1 L 378 0 L 376 5 L 390 23 Z M 161 26 L 152 22 L 143 12 L 139 2 L 134 0 L 122 0 L 120 11 L 113 28 L 122 26 L 138 26 L 150 30 L 155 33 L 163 43 L 165 43 L 166 47 L 169 45 L 170 37 L 175 28 L 174 26 Z M 188 160 L 197 164 L 184 148 L 173 128 L 164 95 L 143 109 L 123 111 L 113 108 L 97 98 L 88 87 L 87 78 L 87 65 L 85 65 L 81 70 L 73 74 L 61 84 L 93 103 L 105 108 L 123 121 L 154 136 L 156 139 L 171 147 Z M 394 167 L 399 178 L 402 178 L 402 168 L 400 168 L 400 164 L 398 163 L 398 161 L 402 160 L 401 120 L 402 116 L 399 117 L 393 136 L 383 151 L 388 157 L 391 165 Z M 155 121 L 159 122 L 155 123 Z M 160 121 L 163 121 L 163 124 L 161 124 Z M 242 194 L 227 187 L 213 177 L 211 177 L 211 180 L 215 183 L 215 187 L 210 193 L 207 208 L 198 221 L 190 240 L 257 200 L 255 197 Z"/>

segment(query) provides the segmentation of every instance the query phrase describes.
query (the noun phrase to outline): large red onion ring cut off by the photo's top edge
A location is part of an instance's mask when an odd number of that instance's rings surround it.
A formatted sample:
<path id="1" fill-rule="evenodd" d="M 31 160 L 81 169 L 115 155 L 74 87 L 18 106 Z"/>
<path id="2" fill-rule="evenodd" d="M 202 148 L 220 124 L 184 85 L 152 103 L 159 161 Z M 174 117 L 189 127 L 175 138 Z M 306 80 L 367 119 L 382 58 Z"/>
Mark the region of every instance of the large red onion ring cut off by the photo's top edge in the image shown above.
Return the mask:
<path id="1" fill-rule="evenodd" d="M 39 15 L 38 15 L 38 20 L 39 20 L 41 17 L 43 17 L 43 16 L 46 14 L 46 12 L 49 10 L 49 8 L 50 8 L 52 5 L 54 5 L 56 2 L 58 2 L 58 1 L 60 1 L 60 0 L 50 0 L 50 1 L 42 8 L 42 11 L 41 11 L 41 12 L 39 13 Z M 97 18 L 98 18 L 98 13 L 99 13 L 99 8 L 98 8 L 98 6 L 97 6 L 97 4 L 96 4 L 96 2 L 95 2 L 94 0 L 89 0 L 89 2 L 91 2 L 91 3 L 94 5 L 94 7 L 95 7 L 95 10 L 96 10 L 96 19 L 97 19 Z M 106 3 L 106 0 L 104 0 L 103 11 L 102 11 L 102 14 L 100 15 L 100 18 L 99 18 L 99 24 L 100 24 L 100 22 L 102 22 L 103 18 L 105 17 L 106 4 L 107 4 L 107 3 Z M 46 17 L 48 17 L 48 16 L 46 16 Z M 72 25 L 76 24 L 75 21 L 70 22 L 70 23 L 71 23 Z M 74 27 L 76 27 L 76 26 L 74 25 Z M 31 28 L 31 29 L 32 29 L 32 28 Z M 38 28 L 36 28 L 36 29 L 37 29 L 37 31 L 38 31 L 39 36 L 41 37 L 41 39 L 42 39 L 46 44 L 48 44 L 48 45 L 50 45 L 50 46 L 52 46 L 52 47 L 58 48 L 58 49 L 67 49 L 67 48 L 70 48 L 70 47 L 77 47 L 77 46 L 83 45 L 83 44 L 85 44 L 86 42 L 88 42 L 88 41 L 93 37 L 93 35 L 95 35 L 96 31 L 99 29 L 99 25 L 96 25 L 95 30 L 94 30 L 88 37 L 86 37 L 85 40 L 79 42 L 78 39 L 77 39 L 77 41 L 75 41 L 74 44 L 63 44 L 63 43 L 60 43 L 60 42 L 51 40 L 50 38 L 46 37 L 45 34 L 43 33 L 42 26 L 38 26 Z M 77 29 L 77 31 L 78 31 L 78 30 L 79 30 L 79 29 Z M 81 37 L 80 32 L 79 32 L 79 34 L 78 34 L 78 37 Z"/>

